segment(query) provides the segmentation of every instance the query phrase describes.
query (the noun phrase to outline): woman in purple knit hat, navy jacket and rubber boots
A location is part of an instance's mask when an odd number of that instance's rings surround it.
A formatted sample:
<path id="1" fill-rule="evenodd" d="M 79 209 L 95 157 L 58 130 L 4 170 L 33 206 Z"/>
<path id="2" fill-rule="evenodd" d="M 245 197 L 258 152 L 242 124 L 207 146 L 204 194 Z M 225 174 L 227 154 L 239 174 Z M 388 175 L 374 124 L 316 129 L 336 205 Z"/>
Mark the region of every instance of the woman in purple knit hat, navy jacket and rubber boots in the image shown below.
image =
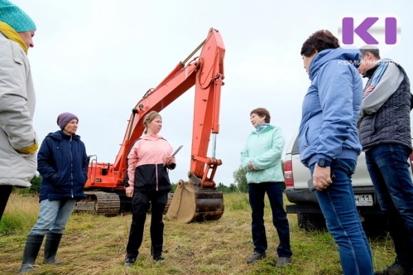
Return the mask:
<path id="1" fill-rule="evenodd" d="M 56 252 L 65 225 L 76 201 L 85 197 L 83 187 L 87 179 L 89 157 L 81 137 L 76 135 L 78 118 L 72 113 L 61 113 L 57 124 L 61 130 L 45 137 L 37 155 L 37 170 L 42 177 L 39 218 L 28 235 L 19 273 L 34 269 L 45 235 L 43 263 L 61 264 L 56 261 Z"/>

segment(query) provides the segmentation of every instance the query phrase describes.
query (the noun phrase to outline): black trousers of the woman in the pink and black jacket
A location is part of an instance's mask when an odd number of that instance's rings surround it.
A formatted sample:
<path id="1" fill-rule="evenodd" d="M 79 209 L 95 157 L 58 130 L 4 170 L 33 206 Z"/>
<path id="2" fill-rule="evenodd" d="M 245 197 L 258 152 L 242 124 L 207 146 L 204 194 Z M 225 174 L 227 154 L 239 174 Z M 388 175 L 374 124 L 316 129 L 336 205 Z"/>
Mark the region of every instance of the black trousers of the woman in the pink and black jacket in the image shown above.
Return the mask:
<path id="1" fill-rule="evenodd" d="M 167 199 L 168 192 L 134 192 L 131 230 L 126 247 L 128 258 L 136 258 L 139 254 L 149 201 L 151 201 L 151 255 L 156 257 L 162 254 L 164 230 L 162 218 Z"/>

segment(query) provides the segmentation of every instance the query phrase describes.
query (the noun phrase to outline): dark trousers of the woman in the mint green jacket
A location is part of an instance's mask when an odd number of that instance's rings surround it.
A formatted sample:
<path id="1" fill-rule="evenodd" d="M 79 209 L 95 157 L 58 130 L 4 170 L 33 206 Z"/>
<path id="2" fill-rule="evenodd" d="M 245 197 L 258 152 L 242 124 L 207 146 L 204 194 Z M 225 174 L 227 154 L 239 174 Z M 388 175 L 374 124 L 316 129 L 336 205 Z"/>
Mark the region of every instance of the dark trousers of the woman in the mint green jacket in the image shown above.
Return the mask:
<path id="1" fill-rule="evenodd" d="M 281 182 L 263 182 L 248 184 L 248 197 L 251 205 L 251 229 L 253 232 L 254 252 L 264 253 L 268 248 L 264 226 L 264 196 L 267 193 L 273 213 L 273 225 L 277 229 L 279 257 L 290 257 L 293 253 L 290 248 L 290 227 L 287 214 L 284 210 Z"/>

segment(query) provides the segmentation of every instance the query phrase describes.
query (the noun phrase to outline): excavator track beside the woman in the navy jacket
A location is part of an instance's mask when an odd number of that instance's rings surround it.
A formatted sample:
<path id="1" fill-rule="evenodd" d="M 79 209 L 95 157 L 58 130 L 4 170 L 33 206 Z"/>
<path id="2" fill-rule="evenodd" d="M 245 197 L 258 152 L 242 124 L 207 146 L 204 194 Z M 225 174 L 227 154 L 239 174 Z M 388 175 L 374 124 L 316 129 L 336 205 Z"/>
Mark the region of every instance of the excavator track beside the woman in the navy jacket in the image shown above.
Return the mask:
<path id="1" fill-rule="evenodd" d="M 120 199 L 118 194 L 109 192 L 85 192 L 85 199 L 78 201 L 76 212 L 92 212 L 105 216 L 116 216 L 120 213 Z"/>

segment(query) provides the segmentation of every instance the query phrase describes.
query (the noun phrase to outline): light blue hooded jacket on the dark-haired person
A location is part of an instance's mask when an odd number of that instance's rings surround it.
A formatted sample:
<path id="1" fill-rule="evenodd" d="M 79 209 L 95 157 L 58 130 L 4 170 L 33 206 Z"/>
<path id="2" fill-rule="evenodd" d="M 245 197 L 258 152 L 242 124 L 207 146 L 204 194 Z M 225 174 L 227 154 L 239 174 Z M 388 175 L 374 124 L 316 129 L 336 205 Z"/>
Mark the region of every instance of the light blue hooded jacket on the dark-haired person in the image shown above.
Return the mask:
<path id="1" fill-rule="evenodd" d="M 361 76 L 355 65 L 359 50 L 322 50 L 310 63 L 311 85 L 303 102 L 299 126 L 301 162 L 309 167 L 319 158 L 354 159 L 361 153 L 357 133 Z"/>

